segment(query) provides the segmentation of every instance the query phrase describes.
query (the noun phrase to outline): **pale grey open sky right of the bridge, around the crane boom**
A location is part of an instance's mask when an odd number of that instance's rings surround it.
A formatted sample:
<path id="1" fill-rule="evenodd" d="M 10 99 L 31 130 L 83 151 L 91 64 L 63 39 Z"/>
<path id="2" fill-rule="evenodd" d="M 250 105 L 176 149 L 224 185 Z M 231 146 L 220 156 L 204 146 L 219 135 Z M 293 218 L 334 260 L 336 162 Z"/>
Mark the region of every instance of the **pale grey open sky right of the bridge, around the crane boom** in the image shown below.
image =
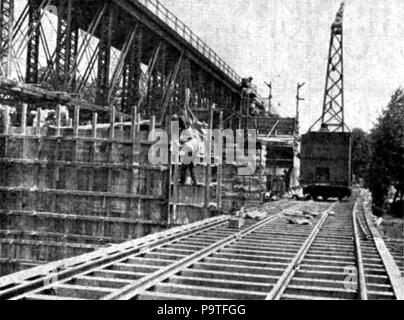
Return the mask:
<path id="1" fill-rule="evenodd" d="M 301 91 L 301 128 L 322 111 L 330 26 L 340 0 L 160 0 L 263 96 L 294 116 Z M 404 86 L 404 1 L 346 0 L 345 118 L 370 130 L 391 94 Z M 278 106 L 280 104 L 280 106 Z"/>

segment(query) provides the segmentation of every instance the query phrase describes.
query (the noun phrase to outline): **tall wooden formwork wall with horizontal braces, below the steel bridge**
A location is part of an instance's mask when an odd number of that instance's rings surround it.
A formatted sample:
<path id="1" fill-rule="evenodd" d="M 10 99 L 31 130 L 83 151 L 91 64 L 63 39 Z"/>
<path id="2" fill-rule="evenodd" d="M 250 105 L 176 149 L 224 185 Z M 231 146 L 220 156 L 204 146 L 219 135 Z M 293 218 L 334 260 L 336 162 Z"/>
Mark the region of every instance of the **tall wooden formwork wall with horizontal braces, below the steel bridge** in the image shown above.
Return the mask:
<path id="1" fill-rule="evenodd" d="M 149 163 L 153 119 L 99 124 L 94 113 L 84 126 L 76 108 L 71 127 L 13 127 L 8 112 L 0 135 L 0 274 L 210 216 L 206 199 L 217 197 L 216 188 L 205 191 L 206 167 L 195 169 L 197 186 L 178 186 L 170 165 Z"/>

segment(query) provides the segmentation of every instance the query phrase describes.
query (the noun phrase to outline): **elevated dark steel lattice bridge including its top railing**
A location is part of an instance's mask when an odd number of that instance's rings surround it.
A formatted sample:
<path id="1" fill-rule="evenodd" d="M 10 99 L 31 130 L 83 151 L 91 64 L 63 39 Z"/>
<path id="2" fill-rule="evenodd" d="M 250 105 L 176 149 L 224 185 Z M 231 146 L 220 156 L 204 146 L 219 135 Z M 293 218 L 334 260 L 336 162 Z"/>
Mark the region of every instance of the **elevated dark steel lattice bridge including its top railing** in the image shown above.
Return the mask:
<path id="1" fill-rule="evenodd" d="M 0 4 L 0 94 L 12 97 L 7 103 L 80 106 L 104 111 L 105 121 L 112 108 L 124 119 L 137 108 L 163 124 L 188 94 L 202 120 L 212 105 L 225 118 L 248 114 L 241 78 L 157 0 L 26 0 L 15 20 L 13 0 Z M 55 26 L 46 27 L 52 19 Z"/>

